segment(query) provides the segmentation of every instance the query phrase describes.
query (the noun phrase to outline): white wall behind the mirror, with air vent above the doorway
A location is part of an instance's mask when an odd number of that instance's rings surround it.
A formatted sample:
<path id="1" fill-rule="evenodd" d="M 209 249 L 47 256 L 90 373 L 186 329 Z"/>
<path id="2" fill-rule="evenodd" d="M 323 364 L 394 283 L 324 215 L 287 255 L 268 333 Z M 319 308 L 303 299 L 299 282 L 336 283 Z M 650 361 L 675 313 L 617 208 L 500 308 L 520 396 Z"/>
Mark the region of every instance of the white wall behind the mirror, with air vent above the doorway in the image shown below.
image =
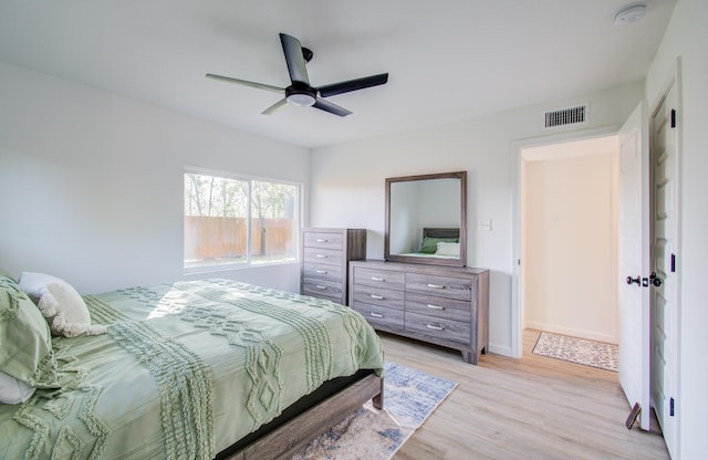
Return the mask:
<path id="1" fill-rule="evenodd" d="M 511 355 L 512 200 L 518 142 L 545 135 L 540 128 L 543 109 L 590 102 L 585 129 L 618 127 L 642 97 L 643 83 L 636 83 L 572 101 L 315 149 L 310 224 L 366 228 L 367 257 L 383 259 L 384 179 L 467 170 L 468 265 L 491 270 L 490 351 Z M 477 231 L 480 218 L 491 219 L 491 231 Z"/>

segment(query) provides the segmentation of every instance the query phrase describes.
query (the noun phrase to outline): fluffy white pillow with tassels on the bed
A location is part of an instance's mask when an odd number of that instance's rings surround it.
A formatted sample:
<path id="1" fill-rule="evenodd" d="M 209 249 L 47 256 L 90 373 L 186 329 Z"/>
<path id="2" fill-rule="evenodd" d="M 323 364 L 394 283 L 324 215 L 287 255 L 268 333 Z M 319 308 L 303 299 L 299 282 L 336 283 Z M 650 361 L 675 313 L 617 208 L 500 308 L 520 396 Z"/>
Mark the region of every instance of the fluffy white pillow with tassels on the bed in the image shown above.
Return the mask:
<path id="1" fill-rule="evenodd" d="M 75 337 L 106 332 L 105 326 L 91 325 L 84 300 L 67 282 L 43 273 L 24 272 L 20 276 L 20 288 L 39 299 L 37 306 L 49 322 L 53 335 Z"/>

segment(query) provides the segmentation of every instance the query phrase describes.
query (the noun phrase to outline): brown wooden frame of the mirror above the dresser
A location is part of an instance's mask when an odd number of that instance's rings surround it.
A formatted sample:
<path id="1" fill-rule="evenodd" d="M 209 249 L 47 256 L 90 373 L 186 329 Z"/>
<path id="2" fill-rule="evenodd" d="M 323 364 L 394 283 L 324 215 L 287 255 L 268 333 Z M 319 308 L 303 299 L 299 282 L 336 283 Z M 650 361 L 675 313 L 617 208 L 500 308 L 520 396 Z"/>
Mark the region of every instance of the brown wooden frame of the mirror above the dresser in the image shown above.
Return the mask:
<path id="1" fill-rule="evenodd" d="M 428 257 L 412 257 L 391 253 L 391 185 L 414 180 L 459 179 L 460 180 L 460 219 L 459 219 L 459 259 L 437 259 Z M 445 229 L 439 229 L 445 230 Z M 386 229 L 384 233 L 384 259 L 392 262 L 425 263 L 434 265 L 467 265 L 467 171 L 427 174 L 419 176 L 403 176 L 386 178 Z"/>

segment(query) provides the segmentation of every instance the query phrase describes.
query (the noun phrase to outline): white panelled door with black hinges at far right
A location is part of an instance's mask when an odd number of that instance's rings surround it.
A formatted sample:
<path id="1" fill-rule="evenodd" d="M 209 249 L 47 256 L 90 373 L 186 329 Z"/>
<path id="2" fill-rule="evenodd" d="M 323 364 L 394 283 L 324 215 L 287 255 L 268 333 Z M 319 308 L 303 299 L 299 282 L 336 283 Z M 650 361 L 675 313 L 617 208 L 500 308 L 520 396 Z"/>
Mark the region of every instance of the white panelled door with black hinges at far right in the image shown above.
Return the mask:
<path id="1" fill-rule="evenodd" d="M 678 82 L 652 114 L 652 259 L 662 283 L 652 290 L 652 406 L 666 447 L 676 458 L 678 389 Z M 658 284 L 658 283 L 657 283 Z"/>

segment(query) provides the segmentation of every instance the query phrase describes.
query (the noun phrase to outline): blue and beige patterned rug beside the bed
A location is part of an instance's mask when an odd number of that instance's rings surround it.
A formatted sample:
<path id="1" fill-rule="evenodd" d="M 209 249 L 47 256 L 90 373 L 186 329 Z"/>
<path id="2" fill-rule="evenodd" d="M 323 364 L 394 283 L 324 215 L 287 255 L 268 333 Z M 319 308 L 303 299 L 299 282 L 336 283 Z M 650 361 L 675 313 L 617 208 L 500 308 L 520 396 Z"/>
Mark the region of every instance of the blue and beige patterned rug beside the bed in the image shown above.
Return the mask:
<path id="1" fill-rule="evenodd" d="M 384 410 L 367 402 L 292 459 L 389 459 L 457 387 L 456 383 L 389 362 L 384 376 Z"/>

